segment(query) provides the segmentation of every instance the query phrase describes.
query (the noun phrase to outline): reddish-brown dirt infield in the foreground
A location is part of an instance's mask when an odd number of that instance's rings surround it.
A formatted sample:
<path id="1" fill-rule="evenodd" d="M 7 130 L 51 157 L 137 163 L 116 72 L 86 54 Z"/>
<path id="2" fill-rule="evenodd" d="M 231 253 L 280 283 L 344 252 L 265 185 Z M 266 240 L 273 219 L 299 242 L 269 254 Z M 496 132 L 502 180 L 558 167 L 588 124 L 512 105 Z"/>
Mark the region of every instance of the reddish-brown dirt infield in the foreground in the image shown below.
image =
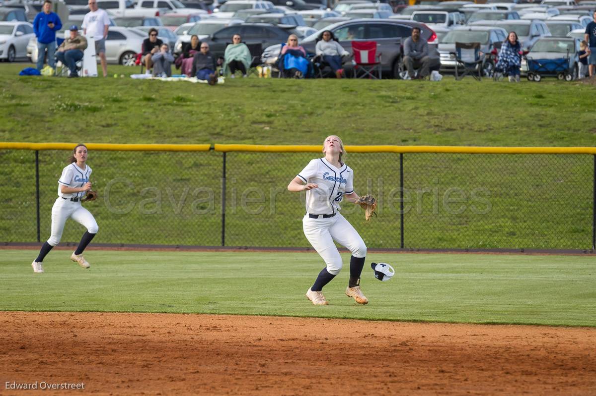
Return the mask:
<path id="1" fill-rule="evenodd" d="M 70 312 L 0 326 L 0 394 L 596 394 L 594 328 Z M 41 390 L 64 383 L 85 388 Z"/>

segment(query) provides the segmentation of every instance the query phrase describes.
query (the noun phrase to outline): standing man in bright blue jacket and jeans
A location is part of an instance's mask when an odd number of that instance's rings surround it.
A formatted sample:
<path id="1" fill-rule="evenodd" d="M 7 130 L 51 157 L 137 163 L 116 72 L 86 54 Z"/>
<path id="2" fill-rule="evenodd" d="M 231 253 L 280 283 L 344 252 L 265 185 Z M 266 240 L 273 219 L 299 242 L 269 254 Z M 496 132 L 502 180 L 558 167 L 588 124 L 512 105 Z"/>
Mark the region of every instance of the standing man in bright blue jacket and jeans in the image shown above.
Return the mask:
<path id="1" fill-rule="evenodd" d="M 48 51 L 48 65 L 55 68 L 54 52 L 56 52 L 56 32 L 62 29 L 60 17 L 52 12 L 52 2 L 45 0 L 42 11 L 35 15 L 33 20 L 33 32 L 37 37 L 38 61 L 37 70 L 44 67 L 45 51 Z"/>

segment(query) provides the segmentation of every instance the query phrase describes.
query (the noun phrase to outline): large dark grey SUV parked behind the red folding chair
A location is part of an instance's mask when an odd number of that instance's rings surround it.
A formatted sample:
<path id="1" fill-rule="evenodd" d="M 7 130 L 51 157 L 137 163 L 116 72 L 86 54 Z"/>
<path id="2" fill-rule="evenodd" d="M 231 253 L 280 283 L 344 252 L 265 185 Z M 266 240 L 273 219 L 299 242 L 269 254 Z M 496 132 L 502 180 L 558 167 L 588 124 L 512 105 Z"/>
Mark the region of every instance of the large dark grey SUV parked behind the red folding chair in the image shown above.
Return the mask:
<path id="1" fill-rule="evenodd" d="M 337 37 L 339 43 L 350 51 L 352 49 L 352 40 L 377 42 L 377 51 L 383 54 L 381 58 L 381 70 L 387 76 L 399 78 L 399 74 L 403 70 L 402 65 L 402 40 L 411 36 L 412 27 L 420 27 L 421 37 L 423 40 L 429 42 L 429 52 L 433 65 L 438 67 L 439 53 L 436 46 L 436 34 L 423 23 L 408 21 L 408 20 L 348 20 L 342 21 L 330 26 L 325 30 L 331 30 L 334 36 Z M 318 39 L 321 30 L 312 34 L 300 42 L 306 52 L 315 54 L 316 40 Z M 350 37 L 353 35 L 353 38 Z M 277 61 L 277 55 L 280 53 L 281 45 L 272 45 L 263 51 L 261 60 L 268 64 L 274 64 Z"/>

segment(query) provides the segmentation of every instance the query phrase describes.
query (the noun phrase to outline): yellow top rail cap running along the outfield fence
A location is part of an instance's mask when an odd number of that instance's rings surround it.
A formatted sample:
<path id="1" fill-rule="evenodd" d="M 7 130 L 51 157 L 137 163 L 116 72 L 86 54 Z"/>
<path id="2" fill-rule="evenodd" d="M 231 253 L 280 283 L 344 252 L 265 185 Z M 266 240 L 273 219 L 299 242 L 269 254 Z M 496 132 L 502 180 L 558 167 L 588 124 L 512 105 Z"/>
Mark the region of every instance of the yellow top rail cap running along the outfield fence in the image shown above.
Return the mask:
<path id="1" fill-rule="evenodd" d="M 85 143 L 89 150 L 321 153 L 322 146 L 267 144 L 115 144 Z M 0 142 L 0 150 L 72 150 L 76 143 Z M 593 154 L 596 147 L 346 146 L 348 153 Z"/>

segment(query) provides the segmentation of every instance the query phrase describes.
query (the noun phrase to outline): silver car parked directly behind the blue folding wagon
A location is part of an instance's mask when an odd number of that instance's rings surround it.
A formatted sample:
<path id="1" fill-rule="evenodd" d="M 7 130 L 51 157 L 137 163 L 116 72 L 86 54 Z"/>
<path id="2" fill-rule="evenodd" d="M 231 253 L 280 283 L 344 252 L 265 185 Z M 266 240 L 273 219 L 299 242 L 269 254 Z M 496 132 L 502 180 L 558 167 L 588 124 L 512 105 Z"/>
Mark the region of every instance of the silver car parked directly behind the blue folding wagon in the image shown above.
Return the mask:
<path id="1" fill-rule="evenodd" d="M 527 53 L 527 58 L 530 59 L 560 59 L 569 57 L 567 64 L 570 76 L 573 80 L 578 78 L 579 73 L 579 39 L 573 37 L 542 37 Z M 547 62 L 544 62 L 547 66 Z M 522 59 L 520 67 L 522 74 L 528 72 L 527 61 Z"/>

